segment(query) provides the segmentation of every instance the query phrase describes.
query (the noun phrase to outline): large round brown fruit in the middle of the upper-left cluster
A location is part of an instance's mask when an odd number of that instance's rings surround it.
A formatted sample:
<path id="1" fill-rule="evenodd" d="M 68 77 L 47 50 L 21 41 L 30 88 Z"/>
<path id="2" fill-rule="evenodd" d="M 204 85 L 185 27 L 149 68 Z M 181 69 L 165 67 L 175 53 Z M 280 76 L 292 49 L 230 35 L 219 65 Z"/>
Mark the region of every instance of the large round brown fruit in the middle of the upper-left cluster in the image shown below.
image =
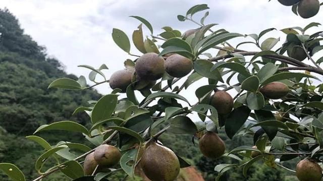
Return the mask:
<path id="1" fill-rule="evenodd" d="M 165 73 L 165 60 L 157 53 L 145 53 L 136 62 L 136 74 L 143 80 L 155 81 Z"/>

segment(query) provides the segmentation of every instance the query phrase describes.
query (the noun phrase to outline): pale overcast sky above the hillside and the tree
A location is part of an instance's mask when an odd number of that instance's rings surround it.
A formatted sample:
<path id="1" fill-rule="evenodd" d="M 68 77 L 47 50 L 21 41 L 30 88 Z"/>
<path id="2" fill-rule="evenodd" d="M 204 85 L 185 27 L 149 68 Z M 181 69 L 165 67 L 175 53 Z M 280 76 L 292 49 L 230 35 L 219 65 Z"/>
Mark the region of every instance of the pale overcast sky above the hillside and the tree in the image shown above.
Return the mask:
<path id="1" fill-rule="evenodd" d="M 147 19 L 155 35 L 161 33 L 160 28 L 164 26 L 184 32 L 198 26 L 179 22 L 176 16 L 185 15 L 196 4 L 210 7 L 205 24 L 219 23 L 216 28 L 242 34 L 259 33 L 272 27 L 283 29 L 304 27 L 309 22 L 322 23 L 323 15 L 319 12 L 317 16 L 304 20 L 294 15 L 291 7 L 282 6 L 276 0 L 269 3 L 267 0 L 2 0 L 0 8 L 7 7 L 19 19 L 25 33 L 44 45 L 50 56 L 58 58 L 66 66 L 66 72 L 87 77 L 89 71 L 77 65 L 98 68 L 106 64 L 110 68 L 105 72 L 109 77 L 122 69 L 123 62 L 129 58 L 114 43 L 111 36 L 113 28 L 124 30 L 131 37 L 140 24 L 129 18 L 135 15 Z M 194 18 L 199 21 L 203 14 L 196 14 Z M 281 37 L 281 43 L 285 41 L 285 35 L 279 31 L 271 32 L 267 37 Z M 131 51 L 137 53 L 134 46 Z M 98 90 L 111 92 L 108 85 L 98 86 Z"/>

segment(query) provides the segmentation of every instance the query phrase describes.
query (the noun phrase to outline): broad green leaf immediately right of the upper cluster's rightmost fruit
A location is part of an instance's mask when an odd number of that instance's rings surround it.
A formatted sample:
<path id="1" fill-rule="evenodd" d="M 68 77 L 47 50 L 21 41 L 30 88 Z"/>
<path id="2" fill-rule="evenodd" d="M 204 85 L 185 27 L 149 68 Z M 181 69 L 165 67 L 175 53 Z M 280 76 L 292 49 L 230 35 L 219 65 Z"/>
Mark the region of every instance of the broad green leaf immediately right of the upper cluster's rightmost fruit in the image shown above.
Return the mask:
<path id="1" fill-rule="evenodd" d="M 203 77 L 223 82 L 219 70 L 211 71 L 213 64 L 203 59 L 198 59 L 193 63 L 194 70 Z"/>

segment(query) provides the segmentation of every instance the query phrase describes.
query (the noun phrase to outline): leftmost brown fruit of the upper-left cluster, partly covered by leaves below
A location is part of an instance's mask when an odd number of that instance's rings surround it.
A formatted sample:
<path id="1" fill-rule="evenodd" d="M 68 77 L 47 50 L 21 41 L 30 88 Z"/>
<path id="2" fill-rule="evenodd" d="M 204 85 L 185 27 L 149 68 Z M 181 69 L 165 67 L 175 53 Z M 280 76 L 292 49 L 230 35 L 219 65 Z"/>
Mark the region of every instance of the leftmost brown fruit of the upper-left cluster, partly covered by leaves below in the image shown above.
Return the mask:
<path id="1" fill-rule="evenodd" d="M 112 74 L 110 77 L 110 87 L 112 89 L 119 88 L 122 92 L 126 92 L 127 87 L 131 84 L 132 72 L 129 70 L 120 70 Z"/>

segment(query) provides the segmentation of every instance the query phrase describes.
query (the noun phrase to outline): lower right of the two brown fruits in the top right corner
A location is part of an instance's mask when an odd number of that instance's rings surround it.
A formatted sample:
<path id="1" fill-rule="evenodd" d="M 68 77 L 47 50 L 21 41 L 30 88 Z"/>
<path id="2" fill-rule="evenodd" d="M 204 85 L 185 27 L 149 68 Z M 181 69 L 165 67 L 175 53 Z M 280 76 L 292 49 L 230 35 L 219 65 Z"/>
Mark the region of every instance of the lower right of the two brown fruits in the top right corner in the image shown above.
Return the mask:
<path id="1" fill-rule="evenodd" d="M 315 16 L 319 11 L 318 0 L 301 0 L 298 4 L 297 12 L 302 18 L 310 18 Z"/>

